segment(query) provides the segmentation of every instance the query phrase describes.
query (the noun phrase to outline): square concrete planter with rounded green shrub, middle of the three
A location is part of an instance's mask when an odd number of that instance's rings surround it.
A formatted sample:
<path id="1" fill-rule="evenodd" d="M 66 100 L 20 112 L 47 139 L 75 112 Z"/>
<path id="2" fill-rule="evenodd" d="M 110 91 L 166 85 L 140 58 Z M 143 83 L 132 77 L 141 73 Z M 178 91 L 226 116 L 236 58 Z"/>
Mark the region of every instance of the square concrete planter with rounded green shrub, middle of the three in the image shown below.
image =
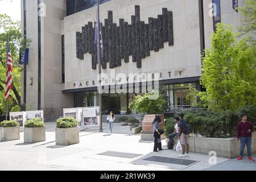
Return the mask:
<path id="1" fill-rule="evenodd" d="M 24 143 L 36 143 L 46 140 L 46 127 L 41 118 L 28 120 L 24 125 Z"/>

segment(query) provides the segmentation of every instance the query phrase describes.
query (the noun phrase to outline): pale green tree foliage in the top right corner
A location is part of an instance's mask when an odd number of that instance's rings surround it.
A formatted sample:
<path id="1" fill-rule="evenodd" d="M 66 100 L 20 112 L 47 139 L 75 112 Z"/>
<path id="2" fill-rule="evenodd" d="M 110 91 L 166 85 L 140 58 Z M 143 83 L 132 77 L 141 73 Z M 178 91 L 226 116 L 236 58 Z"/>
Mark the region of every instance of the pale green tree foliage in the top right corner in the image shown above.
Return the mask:
<path id="1" fill-rule="evenodd" d="M 238 27 L 241 36 L 245 36 L 246 42 L 256 46 L 256 1 L 246 0 L 245 6 L 238 9 L 242 12 L 242 25 Z"/>

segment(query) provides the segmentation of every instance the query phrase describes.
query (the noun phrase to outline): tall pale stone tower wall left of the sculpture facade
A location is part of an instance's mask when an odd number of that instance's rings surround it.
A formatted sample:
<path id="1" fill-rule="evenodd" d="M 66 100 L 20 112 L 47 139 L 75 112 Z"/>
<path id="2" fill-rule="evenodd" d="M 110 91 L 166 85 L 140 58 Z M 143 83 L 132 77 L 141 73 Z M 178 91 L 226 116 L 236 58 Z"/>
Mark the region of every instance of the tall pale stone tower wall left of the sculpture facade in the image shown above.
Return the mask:
<path id="1" fill-rule="evenodd" d="M 41 109 L 44 110 L 46 117 L 51 117 L 53 113 L 61 113 L 63 107 L 73 107 L 73 94 L 62 94 L 64 84 L 61 78 L 61 20 L 66 12 L 65 2 L 65 0 L 41 1 L 46 7 L 44 10 L 46 16 L 41 16 Z M 22 22 L 23 18 L 22 1 Z M 31 105 L 31 110 L 37 110 L 38 3 L 34 0 L 27 0 L 27 38 L 32 40 L 27 65 L 27 105 Z M 30 77 L 33 78 L 33 85 L 30 85 Z M 22 85 L 23 79 L 22 73 Z M 22 88 L 22 102 L 23 98 L 24 88 Z"/>

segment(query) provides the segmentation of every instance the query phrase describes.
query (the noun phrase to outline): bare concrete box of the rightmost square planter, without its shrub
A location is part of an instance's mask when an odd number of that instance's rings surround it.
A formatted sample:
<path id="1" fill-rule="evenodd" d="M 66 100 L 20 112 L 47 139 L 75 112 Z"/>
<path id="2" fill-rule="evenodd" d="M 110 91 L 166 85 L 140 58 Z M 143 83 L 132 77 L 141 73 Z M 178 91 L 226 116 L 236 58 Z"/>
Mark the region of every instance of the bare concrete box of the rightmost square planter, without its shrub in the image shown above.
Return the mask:
<path id="1" fill-rule="evenodd" d="M 56 145 L 68 146 L 79 143 L 79 127 L 71 127 L 69 129 L 56 128 L 55 131 Z"/>

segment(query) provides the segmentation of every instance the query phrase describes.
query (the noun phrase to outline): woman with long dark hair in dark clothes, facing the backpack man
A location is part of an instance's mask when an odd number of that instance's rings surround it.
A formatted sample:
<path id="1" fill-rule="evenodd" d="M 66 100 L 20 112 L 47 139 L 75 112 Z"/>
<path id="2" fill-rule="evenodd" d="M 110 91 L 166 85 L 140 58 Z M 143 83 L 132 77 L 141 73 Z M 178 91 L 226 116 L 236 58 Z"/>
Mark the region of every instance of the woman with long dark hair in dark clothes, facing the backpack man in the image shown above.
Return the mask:
<path id="1" fill-rule="evenodd" d="M 159 116 L 156 116 L 153 121 L 153 140 L 154 140 L 154 152 L 158 152 L 158 150 L 162 149 L 162 143 L 161 143 L 161 134 L 159 132 L 159 123 L 161 122 L 161 118 Z"/>

